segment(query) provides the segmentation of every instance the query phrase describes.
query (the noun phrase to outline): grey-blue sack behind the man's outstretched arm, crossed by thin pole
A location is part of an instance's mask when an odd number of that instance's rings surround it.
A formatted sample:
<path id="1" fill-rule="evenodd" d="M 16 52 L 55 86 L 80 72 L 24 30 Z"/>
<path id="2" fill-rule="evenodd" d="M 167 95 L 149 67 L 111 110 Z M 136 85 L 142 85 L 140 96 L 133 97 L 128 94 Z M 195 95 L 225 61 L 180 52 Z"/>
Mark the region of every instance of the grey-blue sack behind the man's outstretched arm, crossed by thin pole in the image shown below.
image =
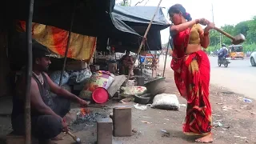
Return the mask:
<path id="1" fill-rule="evenodd" d="M 50 79 L 53 80 L 54 83 L 57 85 L 59 84 L 59 81 L 61 79 L 61 74 L 62 71 L 54 71 L 52 74 L 50 74 Z M 70 74 L 68 74 L 66 71 L 63 72 L 63 77 L 62 77 L 62 85 L 65 85 L 67 82 L 69 82 L 70 79 Z"/>

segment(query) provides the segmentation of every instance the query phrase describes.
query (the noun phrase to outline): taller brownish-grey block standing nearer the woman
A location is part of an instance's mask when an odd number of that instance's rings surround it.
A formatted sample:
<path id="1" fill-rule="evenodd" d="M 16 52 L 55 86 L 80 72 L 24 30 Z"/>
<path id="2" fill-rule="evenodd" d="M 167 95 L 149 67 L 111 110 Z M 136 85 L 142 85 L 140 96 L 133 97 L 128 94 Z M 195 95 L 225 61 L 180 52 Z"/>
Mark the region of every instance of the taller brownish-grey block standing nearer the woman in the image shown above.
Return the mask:
<path id="1" fill-rule="evenodd" d="M 114 137 L 130 137 L 131 128 L 131 108 L 122 107 L 113 109 L 113 135 Z"/>

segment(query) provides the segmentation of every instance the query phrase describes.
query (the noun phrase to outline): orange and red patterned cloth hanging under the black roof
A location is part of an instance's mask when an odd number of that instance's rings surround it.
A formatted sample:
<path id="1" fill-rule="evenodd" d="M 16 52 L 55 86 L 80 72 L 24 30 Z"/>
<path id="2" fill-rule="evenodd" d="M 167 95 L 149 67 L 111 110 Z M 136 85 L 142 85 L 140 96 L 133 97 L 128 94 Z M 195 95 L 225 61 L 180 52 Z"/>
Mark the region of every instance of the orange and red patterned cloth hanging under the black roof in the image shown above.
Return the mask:
<path id="1" fill-rule="evenodd" d="M 26 30 L 26 22 L 19 21 L 18 28 Z M 42 45 L 47 46 L 54 53 L 64 56 L 69 32 L 54 26 L 38 23 L 32 25 L 32 36 Z M 67 57 L 88 61 L 96 49 L 97 38 L 82 34 L 71 33 L 70 47 Z"/>

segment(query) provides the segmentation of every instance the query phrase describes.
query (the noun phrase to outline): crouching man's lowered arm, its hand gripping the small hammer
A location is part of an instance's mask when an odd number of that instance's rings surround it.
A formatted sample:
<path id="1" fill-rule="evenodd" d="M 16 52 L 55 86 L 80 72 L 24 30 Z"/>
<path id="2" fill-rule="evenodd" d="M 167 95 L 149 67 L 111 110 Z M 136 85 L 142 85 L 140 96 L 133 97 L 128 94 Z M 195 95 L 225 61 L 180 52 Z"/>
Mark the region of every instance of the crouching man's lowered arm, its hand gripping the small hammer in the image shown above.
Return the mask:
<path id="1" fill-rule="evenodd" d="M 56 118 L 61 118 L 58 114 L 55 114 L 49 106 L 46 106 L 45 102 L 42 101 L 42 97 L 38 89 L 38 84 L 34 81 L 34 78 L 31 79 L 30 102 L 31 106 L 34 107 L 35 110 L 38 110 L 39 113 L 53 115 Z"/>

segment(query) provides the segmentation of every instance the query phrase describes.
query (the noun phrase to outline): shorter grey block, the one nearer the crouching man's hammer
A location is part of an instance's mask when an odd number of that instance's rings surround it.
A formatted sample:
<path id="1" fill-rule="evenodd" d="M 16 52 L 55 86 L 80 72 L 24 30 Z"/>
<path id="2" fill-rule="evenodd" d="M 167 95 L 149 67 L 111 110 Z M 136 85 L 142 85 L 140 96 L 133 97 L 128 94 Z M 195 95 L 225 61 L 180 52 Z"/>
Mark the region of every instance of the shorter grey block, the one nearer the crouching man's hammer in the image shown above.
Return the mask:
<path id="1" fill-rule="evenodd" d="M 112 144 L 112 126 L 113 122 L 110 118 L 102 118 L 97 122 L 98 144 Z"/>

